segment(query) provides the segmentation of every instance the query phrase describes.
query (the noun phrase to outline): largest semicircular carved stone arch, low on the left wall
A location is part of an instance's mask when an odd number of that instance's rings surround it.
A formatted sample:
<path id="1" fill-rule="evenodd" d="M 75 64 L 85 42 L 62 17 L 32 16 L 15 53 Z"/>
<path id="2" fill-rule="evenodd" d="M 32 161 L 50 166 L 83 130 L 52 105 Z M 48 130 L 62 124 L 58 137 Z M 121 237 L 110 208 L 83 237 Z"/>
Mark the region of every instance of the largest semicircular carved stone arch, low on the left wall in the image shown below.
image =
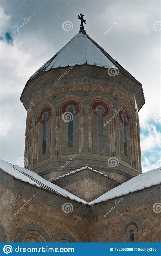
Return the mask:
<path id="1" fill-rule="evenodd" d="M 48 233 L 36 224 L 27 224 L 20 228 L 15 242 L 49 242 Z"/>

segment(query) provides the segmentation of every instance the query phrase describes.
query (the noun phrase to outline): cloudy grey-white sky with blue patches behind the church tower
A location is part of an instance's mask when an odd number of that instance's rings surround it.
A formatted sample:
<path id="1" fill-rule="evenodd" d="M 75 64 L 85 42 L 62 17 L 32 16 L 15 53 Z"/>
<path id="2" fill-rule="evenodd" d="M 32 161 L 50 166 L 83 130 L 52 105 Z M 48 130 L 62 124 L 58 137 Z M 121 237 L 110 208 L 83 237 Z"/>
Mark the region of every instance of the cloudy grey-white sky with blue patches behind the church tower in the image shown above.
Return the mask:
<path id="1" fill-rule="evenodd" d="M 82 12 L 86 33 L 142 84 L 142 169 L 161 166 L 160 7 L 159 0 L 0 1 L 0 158 L 17 164 L 24 156 L 22 90 L 29 77 L 78 33 L 77 15 Z M 67 21 L 68 31 L 62 26 Z"/>

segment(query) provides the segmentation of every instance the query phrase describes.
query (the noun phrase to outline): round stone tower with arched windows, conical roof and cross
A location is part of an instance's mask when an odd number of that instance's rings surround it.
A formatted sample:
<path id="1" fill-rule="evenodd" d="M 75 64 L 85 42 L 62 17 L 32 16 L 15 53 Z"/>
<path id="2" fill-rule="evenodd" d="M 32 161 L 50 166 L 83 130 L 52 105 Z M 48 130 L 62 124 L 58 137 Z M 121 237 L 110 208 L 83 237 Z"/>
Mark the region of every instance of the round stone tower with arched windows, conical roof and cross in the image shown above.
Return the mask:
<path id="1" fill-rule="evenodd" d="M 84 166 L 122 183 L 141 173 L 142 85 L 81 30 L 25 85 L 25 168 L 53 180 Z"/>

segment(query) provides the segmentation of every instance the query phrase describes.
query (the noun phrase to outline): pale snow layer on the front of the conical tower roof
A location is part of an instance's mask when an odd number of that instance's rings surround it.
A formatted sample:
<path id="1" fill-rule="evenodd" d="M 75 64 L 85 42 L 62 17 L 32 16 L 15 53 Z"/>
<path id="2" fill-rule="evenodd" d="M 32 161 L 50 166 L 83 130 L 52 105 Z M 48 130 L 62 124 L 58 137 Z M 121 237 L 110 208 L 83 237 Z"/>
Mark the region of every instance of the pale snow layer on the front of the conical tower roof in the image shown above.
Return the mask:
<path id="1" fill-rule="evenodd" d="M 57 54 L 36 71 L 30 79 L 42 71 L 83 64 L 104 68 L 112 67 L 118 70 L 87 35 L 78 33 Z"/>

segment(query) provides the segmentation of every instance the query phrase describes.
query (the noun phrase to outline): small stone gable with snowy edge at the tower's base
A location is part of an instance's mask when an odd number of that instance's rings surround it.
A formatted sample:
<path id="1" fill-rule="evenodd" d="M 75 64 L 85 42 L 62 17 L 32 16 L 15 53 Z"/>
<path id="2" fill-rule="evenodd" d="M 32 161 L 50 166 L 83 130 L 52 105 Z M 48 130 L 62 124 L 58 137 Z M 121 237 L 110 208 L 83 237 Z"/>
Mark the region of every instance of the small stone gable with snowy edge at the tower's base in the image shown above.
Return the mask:
<path id="1" fill-rule="evenodd" d="M 119 182 L 111 179 L 92 168 L 78 169 L 55 179 L 52 183 L 64 188 L 86 202 L 96 199 L 110 189 L 120 185 Z"/>

